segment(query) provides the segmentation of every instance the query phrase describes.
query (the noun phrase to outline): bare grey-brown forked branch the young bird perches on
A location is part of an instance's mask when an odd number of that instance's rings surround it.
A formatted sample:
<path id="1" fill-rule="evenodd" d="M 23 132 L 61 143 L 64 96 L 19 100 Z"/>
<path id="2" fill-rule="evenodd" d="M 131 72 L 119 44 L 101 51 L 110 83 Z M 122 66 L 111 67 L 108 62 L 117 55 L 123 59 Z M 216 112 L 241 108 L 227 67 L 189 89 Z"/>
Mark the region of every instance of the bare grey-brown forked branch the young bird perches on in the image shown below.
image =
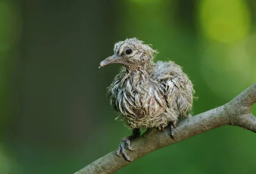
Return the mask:
<path id="1" fill-rule="evenodd" d="M 256 103 L 256 83 L 229 103 L 178 122 L 175 129 L 175 140 L 170 138 L 167 129 L 164 132 L 149 129 L 131 142 L 132 147 L 136 150 L 127 150 L 126 152 L 135 161 L 157 149 L 225 125 L 239 126 L 256 133 L 256 117 L 251 113 L 251 107 L 254 103 Z M 115 150 L 85 166 L 75 174 L 112 174 L 129 163 L 131 162 L 118 157 Z"/>

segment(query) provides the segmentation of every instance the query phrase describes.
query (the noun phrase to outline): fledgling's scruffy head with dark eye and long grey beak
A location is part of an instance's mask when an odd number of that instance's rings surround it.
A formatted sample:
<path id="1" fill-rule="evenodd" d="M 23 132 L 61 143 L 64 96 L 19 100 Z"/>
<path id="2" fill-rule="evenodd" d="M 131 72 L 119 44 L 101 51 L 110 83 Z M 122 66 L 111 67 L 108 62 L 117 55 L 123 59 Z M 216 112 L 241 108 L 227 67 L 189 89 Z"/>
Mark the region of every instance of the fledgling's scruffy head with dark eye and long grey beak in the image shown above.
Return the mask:
<path id="1" fill-rule="evenodd" d="M 148 68 L 153 65 L 157 51 L 136 38 L 119 41 L 114 46 L 114 54 L 100 62 L 99 68 L 108 64 L 123 64 L 129 69 Z"/>

